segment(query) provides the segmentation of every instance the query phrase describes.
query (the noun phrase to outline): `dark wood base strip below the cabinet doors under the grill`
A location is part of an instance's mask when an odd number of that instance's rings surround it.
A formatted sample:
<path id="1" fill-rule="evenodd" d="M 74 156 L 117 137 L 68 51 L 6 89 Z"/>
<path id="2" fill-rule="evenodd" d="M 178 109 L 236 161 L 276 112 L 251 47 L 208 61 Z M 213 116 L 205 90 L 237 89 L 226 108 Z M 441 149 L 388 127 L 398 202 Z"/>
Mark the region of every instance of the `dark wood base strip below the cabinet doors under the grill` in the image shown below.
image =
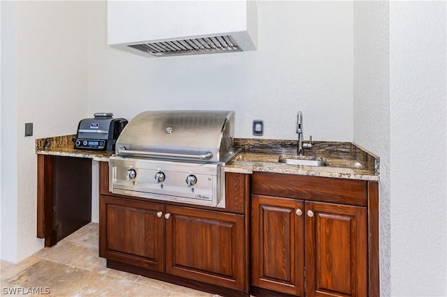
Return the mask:
<path id="1" fill-rule="evenodd" d="M 213 284 L 204 284 L 203 282 L 197 282 L 196 280 L 189 280 L 183 277 L 175 275 L 168 275 L 159 271 L 151 271 L 138 266 L 124 264 L 117 261 L 107 260 L 107 267 L 116 269 L 117 271 L 125 271 L 128 273 L 134 273 L 145 277 L 151 277 L 156 280 L 162 280 L 163 282 L 170 282 L 173 284 L 179 284 L 183 287 L 189 287 L 199 291 L 205 291 L 211 294 L 218 294 L 221 296 L 249 296 L 248 292 L 236 291 L 224 287 L 214 286 Z"/>

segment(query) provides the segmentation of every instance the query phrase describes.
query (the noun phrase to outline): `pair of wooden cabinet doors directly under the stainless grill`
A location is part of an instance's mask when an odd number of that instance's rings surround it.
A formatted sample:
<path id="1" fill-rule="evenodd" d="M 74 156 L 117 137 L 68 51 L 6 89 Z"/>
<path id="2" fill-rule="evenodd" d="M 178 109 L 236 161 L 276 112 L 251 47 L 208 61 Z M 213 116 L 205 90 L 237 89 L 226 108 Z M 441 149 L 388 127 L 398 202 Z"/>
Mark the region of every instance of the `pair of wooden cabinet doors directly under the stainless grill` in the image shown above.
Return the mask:
<path id="1" fill-rule="evenodd" d="M 100 256 L 244 290 L 244 215 L 101 195 Z"/>

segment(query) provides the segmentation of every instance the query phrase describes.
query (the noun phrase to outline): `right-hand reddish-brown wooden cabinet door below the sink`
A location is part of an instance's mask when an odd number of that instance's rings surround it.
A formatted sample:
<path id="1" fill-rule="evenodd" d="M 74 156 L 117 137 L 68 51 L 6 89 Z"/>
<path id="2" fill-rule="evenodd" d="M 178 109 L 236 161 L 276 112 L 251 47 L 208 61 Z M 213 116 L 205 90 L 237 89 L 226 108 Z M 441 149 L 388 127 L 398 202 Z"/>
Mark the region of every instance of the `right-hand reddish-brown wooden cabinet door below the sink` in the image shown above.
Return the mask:
<path id="1" fill-rule="evenodd" d="M 366 208 L 306 202 L 306 295 L 367 296 Z"/>

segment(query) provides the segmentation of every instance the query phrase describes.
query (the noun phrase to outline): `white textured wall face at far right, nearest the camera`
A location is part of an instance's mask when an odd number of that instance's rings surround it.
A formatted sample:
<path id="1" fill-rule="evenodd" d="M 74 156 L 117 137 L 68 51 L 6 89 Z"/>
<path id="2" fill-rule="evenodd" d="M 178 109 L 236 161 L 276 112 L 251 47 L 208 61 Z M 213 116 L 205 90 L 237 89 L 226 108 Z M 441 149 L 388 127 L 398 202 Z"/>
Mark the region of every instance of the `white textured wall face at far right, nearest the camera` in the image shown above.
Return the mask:
<path id="1" fill-rule="evenodd" d="M 446 5 L 390 2 L 390 265 L 396 296 L 447 296 Z"/>

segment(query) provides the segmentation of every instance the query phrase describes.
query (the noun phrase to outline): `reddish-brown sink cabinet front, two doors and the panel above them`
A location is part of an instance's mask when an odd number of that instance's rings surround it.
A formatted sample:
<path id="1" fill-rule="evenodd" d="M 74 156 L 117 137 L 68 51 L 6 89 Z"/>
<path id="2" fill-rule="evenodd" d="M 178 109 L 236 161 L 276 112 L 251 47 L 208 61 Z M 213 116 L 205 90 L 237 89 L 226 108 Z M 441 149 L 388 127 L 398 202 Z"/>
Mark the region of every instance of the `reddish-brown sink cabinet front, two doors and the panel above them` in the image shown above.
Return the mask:
<path id="1" fill-rule="evenodd" d="M 337 200 L 333 179 L 283 176 L 254 174 L 251 285 L 295 296 L 368 296 L 367 207 L 349 205 L 366 203 L 367 184 L 337 181 L 351 189 Z M 293 197 L 274 197 L 273 188 Z"/>

